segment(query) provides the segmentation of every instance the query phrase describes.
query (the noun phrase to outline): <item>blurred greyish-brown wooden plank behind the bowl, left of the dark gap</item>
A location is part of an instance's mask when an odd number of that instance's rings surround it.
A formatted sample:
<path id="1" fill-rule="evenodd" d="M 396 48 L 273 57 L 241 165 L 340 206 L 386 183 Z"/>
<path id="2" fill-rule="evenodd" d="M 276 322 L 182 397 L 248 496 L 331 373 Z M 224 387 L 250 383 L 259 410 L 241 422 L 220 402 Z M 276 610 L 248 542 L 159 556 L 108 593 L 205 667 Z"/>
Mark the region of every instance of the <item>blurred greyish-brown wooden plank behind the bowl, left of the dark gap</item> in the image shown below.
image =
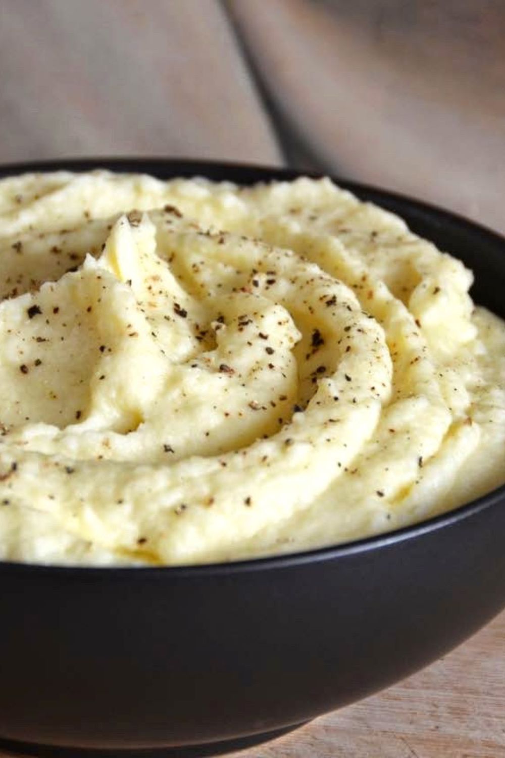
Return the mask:
<path id="1" fill-rule="evenodd" d="M 218 0 L 2 0 L 0 161 L 280 160 Z"/>

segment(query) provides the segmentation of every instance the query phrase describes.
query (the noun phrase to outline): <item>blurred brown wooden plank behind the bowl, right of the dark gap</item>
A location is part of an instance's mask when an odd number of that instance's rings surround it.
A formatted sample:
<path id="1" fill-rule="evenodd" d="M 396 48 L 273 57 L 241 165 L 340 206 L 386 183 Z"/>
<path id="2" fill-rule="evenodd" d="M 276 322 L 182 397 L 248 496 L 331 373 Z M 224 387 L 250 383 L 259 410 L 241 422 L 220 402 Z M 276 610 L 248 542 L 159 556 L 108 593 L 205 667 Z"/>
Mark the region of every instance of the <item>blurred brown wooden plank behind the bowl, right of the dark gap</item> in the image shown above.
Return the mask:
<path id="1" fill-rule="evenodd" d="M 505 231 L 503 0 L 228 5 L 285 129 L 320 168 Z"/>

